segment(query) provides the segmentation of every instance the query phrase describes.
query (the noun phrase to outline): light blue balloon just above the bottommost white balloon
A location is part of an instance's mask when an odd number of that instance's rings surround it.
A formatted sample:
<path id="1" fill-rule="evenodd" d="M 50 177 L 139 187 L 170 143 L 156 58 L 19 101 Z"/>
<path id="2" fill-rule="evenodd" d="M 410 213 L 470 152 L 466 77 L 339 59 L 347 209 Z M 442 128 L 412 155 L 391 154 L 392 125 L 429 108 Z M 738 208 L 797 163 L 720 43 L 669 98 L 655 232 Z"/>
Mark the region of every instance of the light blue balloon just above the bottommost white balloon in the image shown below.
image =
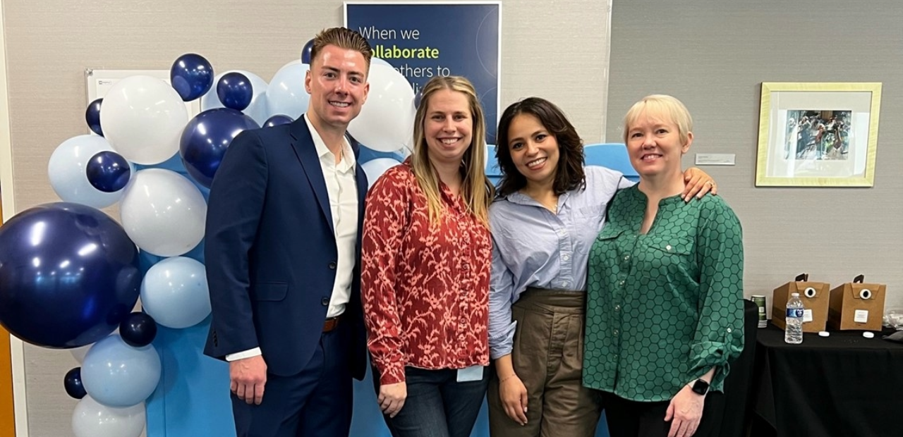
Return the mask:
<path id="1" fill-rule="evenodd" d="M 154 346 L 133 348 L 114 334 L 101 339 L 81 364 L 81 383 L 100 404 L 123 408 L 144 402 L 160 382 Z"/>

